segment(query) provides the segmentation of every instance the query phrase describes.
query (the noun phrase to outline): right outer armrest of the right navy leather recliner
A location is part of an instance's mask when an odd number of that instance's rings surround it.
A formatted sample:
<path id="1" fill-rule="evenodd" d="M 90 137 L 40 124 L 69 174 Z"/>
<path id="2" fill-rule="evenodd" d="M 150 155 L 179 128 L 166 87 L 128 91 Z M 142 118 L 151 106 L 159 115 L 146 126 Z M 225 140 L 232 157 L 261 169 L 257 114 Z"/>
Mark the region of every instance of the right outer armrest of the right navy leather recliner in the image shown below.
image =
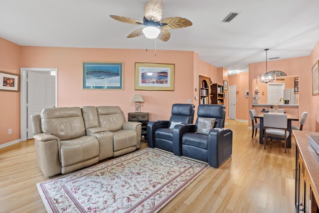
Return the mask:
<path id="1" fill-rule="evenodd" d="M 213 128 L 208 134 L 208 164 L 218 168 L 232 155 L 233 132 L 226 128 Z"/>

